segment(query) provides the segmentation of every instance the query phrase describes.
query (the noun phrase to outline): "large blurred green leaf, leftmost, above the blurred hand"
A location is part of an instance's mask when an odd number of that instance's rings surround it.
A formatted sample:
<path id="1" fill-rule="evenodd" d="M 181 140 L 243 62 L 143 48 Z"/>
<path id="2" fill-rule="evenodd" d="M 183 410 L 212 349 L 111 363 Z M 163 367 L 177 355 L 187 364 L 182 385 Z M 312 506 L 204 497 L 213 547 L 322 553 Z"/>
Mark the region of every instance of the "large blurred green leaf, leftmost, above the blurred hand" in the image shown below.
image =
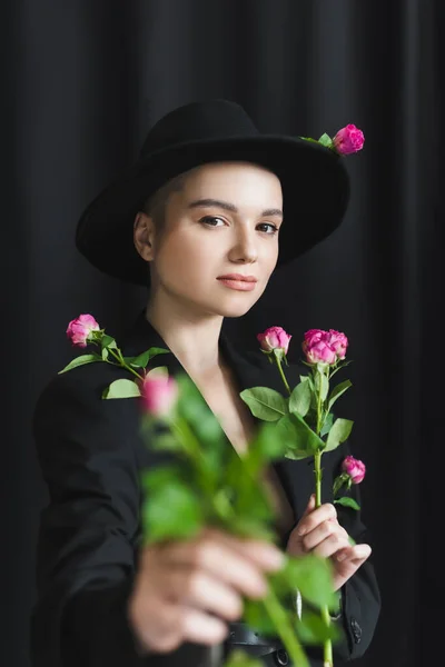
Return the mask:
<path id="1" fill-rule="evenodd" d="M 149 542 L 187 539 L 204 527 L 202 504 L 180 476 L 181 470 L 175 466 L 157 467 L 142 476 L 147 494 L 142 521 Z"/>

